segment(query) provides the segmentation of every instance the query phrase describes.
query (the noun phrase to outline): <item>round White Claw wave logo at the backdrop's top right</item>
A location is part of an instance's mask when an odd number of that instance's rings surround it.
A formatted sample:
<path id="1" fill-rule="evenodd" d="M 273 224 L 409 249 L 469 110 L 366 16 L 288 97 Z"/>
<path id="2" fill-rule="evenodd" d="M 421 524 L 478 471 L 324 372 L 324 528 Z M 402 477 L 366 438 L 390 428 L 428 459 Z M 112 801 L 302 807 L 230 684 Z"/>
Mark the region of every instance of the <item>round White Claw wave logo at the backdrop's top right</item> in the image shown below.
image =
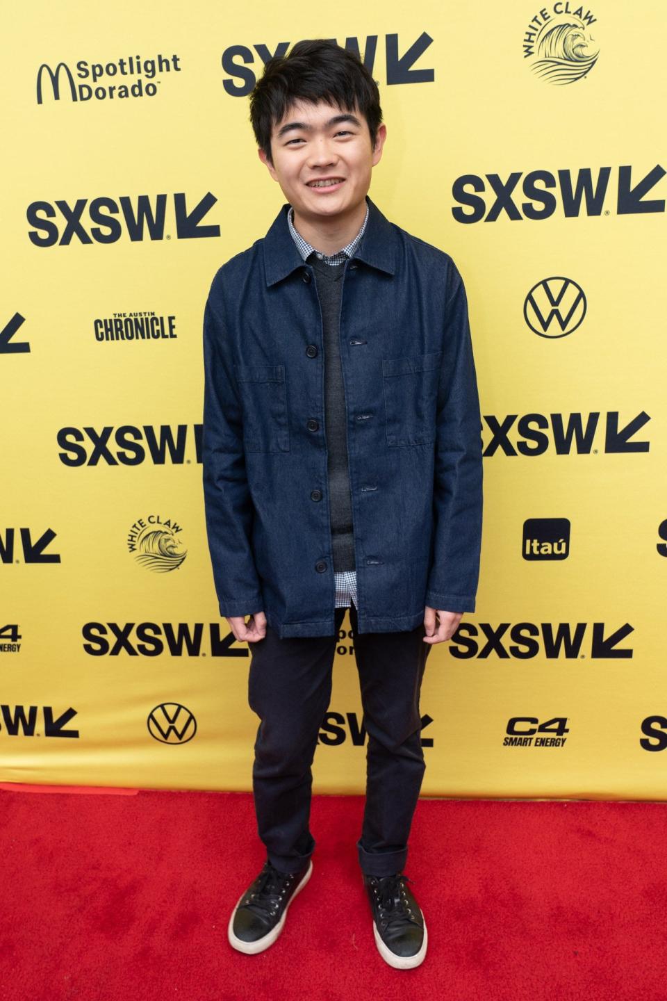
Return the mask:
<path id="1" fill-rule="evenodd" d="M 546 83 L 563 86 L 589 73 L 598 61 L 599 49 L 590 32 L 597 18 L 590 10 L 556 0 L 543 7 L 528 22 L 523 36 L 523 57 Z"/>

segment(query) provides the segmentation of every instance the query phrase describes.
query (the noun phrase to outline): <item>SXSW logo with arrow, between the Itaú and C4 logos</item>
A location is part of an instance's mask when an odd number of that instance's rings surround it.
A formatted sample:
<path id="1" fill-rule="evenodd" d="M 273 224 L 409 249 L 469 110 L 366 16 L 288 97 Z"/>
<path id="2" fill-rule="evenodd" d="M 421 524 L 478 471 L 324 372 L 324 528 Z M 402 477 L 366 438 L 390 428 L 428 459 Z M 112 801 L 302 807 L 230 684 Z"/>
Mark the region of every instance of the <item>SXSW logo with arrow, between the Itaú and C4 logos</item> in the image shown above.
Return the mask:
<path id="1" fill-rule="evenodd" d="M 577 660 L 590 656 L 592 660 L 630 659 L 633 651 L 619 644 L 634 627 L 625 623 L 611 632 L 605 623 L 461 623 L 448 644 L 448 650 L 457 660 L 479 658 L 486 660 L 495 654 L 501 660 L 515 658 L 520 661 L 543 656 L 548 660 L 563 658 Z M 588 654 L 583 654 L 584 639 Z"/>

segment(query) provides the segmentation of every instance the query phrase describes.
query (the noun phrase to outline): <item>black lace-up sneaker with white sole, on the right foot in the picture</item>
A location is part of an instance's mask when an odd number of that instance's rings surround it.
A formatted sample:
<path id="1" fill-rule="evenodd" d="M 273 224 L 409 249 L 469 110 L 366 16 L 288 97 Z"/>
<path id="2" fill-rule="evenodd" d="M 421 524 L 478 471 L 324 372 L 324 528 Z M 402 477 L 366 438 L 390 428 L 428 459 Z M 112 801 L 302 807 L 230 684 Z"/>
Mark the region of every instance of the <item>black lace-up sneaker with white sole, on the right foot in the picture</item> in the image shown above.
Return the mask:
<path id="1" fill-rule="evenodd" d="M 367 876 L 364 886 L 373 912 L 373 934 L 378 952 L 390 966 L 409 970 L 426 956 L 426 922 L 402 873 Z"/>

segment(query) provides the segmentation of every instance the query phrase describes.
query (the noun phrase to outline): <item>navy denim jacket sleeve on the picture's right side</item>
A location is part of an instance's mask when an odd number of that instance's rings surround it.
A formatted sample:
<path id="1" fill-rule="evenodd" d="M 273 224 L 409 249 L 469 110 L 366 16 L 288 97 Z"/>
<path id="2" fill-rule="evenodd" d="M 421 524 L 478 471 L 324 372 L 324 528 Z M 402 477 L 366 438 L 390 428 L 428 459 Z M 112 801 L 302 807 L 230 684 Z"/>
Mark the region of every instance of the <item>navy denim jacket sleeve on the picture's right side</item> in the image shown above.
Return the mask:
<path id="1" fill-rule="evenodd" d="M 474 612 L 482 542 L 482 423 L 465 288 L 451 261 L 450 267 L 426 604 L 444 612 Z"/>

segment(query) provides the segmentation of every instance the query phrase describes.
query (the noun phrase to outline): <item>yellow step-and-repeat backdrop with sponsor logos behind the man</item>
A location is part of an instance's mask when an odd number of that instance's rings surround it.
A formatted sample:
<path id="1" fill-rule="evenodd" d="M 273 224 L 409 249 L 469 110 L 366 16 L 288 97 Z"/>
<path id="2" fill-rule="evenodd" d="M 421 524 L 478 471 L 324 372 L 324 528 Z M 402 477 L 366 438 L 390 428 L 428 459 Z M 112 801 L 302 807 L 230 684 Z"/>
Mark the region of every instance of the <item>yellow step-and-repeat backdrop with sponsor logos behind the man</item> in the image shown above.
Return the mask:
<path id="1" fill-rule="evenodd" d="M 429 658 L 423 793 L 664 798 L 665 27 L 655 0 L 14 9 L 0 781 L 251 788 L 249 651 L 206 544 L 202 318 L 283 200 L 247 95 L 324 37 L 380 84 L 371 196 L 470 302 L 482 573 Z M 152 533 L 177 569 L 142 559 Z M 334 672 L 314 788 L 358 792 L 349 616 Z"/>

